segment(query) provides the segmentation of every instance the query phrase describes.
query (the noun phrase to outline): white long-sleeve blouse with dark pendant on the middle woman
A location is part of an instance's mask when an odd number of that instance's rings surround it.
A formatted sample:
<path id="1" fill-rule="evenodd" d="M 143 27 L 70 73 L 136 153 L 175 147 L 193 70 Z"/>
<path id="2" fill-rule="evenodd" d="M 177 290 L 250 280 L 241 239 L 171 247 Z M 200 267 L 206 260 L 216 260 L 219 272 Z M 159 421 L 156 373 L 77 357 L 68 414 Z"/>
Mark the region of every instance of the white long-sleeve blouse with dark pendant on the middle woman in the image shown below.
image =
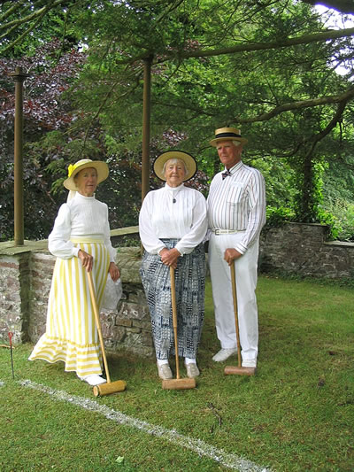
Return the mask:
<path id="1" fill-rule="evenodd" d="M 139 233 L 142 245 L 150 254 L 158 254 L 165 244 L 161 238 L 179 239 L 175 248 L 189 254 L 204 240 L 207 209 L 204 196 L 181 184 L 150 191 L 142 202 Z"/>

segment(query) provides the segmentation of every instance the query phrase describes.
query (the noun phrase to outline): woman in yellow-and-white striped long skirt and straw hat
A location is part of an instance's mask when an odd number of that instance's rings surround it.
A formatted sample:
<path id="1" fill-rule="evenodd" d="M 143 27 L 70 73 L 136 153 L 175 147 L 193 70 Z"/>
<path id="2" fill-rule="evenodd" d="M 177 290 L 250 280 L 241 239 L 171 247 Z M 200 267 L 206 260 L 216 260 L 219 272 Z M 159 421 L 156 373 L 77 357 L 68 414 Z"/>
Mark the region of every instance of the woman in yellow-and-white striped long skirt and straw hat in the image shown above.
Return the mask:
<path id="1" fill-rule="evenodd" d="M 108 273 L 119 278 L 110 239 L 108 206 L 95 198 L 98 183 L 108 176 L 102 161 L 81 159 L 70 165 L 64 182 L 70 190 L 61 205 L 48 238 L 57 257 L 50 287 L 46 331 L 29 360 L 50 363 L 63 360 L 65 371 L 74 371 L 90 385 L 105 383 L 102 353 L 89 296 L 87 272 L 92 271 L 100 306 Z"/>

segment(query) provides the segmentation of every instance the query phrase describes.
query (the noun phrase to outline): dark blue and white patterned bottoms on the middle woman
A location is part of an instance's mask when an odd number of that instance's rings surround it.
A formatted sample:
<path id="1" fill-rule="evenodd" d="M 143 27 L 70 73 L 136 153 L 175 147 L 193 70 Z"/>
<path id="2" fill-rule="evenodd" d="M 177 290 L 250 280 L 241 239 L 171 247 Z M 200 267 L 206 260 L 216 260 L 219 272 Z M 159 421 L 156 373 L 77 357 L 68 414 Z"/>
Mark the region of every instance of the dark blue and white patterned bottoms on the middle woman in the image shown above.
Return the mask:
<path id="1" fill-rule="evenodd" d="M 172 249 L 178 239 L 162 239 Z M 140 269 L 145 290 L 157 359 L 168 359 L 174 353 L 171 304 L 170 267 L 162 263 L 158 254 L 144 251 Z M 196 359 L 204 321 L 205 254 L 199 244 L 190 254 L 184 254 L 174 270 L 178 313 L 178 353 Z"/>

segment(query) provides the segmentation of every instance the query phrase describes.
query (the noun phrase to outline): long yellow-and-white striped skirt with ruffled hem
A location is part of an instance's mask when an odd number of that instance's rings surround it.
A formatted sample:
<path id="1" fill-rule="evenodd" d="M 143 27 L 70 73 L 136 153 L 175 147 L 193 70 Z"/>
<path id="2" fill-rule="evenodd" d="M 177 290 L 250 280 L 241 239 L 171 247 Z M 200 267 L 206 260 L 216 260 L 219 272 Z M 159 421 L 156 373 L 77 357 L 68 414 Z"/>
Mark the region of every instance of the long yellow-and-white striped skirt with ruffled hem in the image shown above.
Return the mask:
<path id="1" fill-rule="evenodd" d="M 76 244 L 94 258 L 92 277 L 97 305 L 101 306 L 110 257 L 103 243 Z M 50 363 L 63 360 L 65 371 L 79 376 L 102 374 L 95 315 L 89 295 L 89 282 L 81 260 L 57 258 L 50 287 L 46 331 L 35 344 L 29 360 Z"/>

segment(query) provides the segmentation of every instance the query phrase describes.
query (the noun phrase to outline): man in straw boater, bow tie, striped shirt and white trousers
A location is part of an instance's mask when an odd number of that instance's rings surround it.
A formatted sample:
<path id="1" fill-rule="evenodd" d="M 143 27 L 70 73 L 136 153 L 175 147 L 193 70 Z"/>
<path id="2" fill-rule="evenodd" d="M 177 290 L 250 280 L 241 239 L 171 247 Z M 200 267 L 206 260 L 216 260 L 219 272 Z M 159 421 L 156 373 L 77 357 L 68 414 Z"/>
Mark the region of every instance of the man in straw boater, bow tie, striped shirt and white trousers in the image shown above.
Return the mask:
<path id="1" fill-rule="evenodd" d="M 211 144 L 225 170 L 212 179 L 208 197 L 209 264 L 215 325 L 222 362 L 236 352 L 235 312 L 230 266 L 235 263 L 237 312 L 242 367 L 256 367 L 258 308 L 256 299 L 258 241 L 266 222 L 266 187 L 260 172 L 241 160 L 247 139 L 237 128 L 219 128 Z"/>

